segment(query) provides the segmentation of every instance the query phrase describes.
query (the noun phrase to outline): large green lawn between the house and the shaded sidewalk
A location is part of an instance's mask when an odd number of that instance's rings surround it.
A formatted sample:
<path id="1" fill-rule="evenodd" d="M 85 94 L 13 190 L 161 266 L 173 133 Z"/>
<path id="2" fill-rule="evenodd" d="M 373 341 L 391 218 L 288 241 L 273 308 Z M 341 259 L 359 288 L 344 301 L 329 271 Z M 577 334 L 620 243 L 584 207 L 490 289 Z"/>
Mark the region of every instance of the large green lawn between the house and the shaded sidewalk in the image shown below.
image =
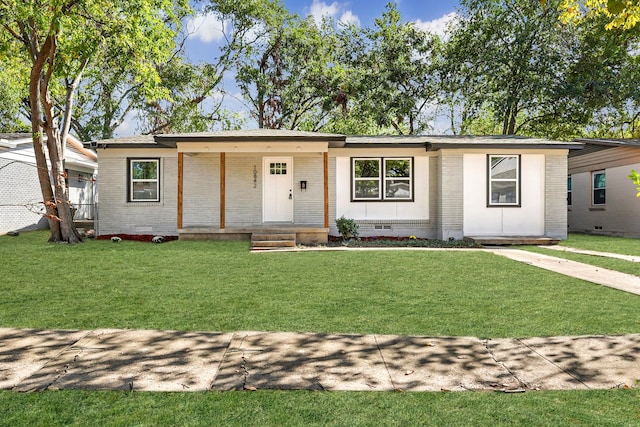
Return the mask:
<path id="1" fill-rule="evenodd" d="M 640 331 L 640 297 L 490 253 L 0 237 L 0 325 L 523 337 Z M 606 302 L 606 303 L 604 303 Z"/>

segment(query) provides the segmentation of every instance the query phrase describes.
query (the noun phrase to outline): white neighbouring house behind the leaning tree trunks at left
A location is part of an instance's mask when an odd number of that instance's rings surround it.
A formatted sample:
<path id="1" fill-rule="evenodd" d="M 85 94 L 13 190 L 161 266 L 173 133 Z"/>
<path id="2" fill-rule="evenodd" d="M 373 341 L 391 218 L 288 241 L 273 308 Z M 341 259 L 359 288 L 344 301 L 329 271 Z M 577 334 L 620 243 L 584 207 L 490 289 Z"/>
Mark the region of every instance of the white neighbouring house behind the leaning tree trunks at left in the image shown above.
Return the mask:
<path id="1" fill-rule="evenodd" d="M 76 220 L 94 217 L 97 156 L 76 138 L 67 140 L 65 167 Z M 31 135 L 0 133 L 0 234 L 47 228 Z"/>

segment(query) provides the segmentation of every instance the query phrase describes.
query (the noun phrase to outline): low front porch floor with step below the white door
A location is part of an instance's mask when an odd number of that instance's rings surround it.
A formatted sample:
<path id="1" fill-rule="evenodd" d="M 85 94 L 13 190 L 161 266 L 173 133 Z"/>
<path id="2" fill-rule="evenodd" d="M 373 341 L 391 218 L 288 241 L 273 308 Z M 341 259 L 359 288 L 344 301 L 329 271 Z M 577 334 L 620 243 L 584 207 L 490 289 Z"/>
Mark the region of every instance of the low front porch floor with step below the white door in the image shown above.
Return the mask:
<path id="1" fill-rule="evenodd" d="M 295 236 L 295 244 L 323 245 L 329 240 L 329 228 L 320 225 L 268 224 L 246 227 L 185 227 L 178 229 L 180 240 L 255 240 L 258 235 Z M 275 237 L 274 237 L 275 240 Z"/>

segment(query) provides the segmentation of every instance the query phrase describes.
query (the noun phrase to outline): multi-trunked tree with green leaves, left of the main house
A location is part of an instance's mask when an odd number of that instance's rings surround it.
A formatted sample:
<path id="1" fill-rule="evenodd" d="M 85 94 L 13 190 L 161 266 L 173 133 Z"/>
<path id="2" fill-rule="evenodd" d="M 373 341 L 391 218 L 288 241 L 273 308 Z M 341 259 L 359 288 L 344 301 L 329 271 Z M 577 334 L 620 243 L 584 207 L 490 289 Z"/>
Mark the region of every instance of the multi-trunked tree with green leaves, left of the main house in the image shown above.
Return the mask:
<path id="1" fill-rule="evenodd" d="M 17 91 L 28 93 L 27 117 L 51 241 L 80 241 L 66 190 L 64 151 L 83 73 L 109 51 L 136 69 L 135 81 L 147 95 L 161 93 L 154 64 L 172 52 L 187 10 L 186 0 L 0 1 L 3 59 L 25 70 Z"/>

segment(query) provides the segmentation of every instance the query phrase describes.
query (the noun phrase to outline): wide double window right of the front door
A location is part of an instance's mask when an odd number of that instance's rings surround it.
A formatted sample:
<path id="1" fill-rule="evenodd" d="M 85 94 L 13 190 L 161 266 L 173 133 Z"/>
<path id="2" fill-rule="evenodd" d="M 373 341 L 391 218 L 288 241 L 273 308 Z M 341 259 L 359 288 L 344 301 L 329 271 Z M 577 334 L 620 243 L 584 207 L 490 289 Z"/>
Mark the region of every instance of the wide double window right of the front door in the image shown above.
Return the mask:
<path id="1" fill-rule="evenodd" d="M 413 200 L 412 158 L 354 158 L 352 177 L 354 201 Z"/>

